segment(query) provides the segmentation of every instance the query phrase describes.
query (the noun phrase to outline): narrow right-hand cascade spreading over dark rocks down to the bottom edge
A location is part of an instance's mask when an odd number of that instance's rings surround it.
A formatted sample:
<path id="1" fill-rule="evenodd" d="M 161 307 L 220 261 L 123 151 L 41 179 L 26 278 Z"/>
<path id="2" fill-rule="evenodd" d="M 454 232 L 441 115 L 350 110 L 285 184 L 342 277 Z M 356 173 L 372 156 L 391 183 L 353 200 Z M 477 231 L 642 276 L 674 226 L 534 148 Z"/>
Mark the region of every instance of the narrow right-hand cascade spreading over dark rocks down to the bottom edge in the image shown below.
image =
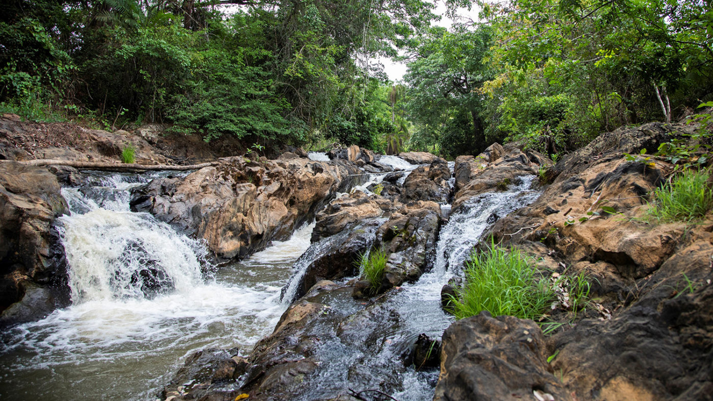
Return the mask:
<path id="1" fill-rule="evenodd" d="M 319 369 L 292 399 L 327 399 L 343 393 L 345 385 L 377 389 L 396 400 L 431 399 L 438 371 L 406 366 L 404 356 L 420 333 L 440 338 L 453 322 L 441 309 L 441 288 L 461 274 L 463 261 L 491 224 L 539 196 L 529 189 L 533 178 L 520 177 L 520 184 L 507 191 L 478 195 L 458 208 L 441 228 L 434 268 L 415 283 L 404 283 L 366 307 L 350 291 L 315 300 L 330 311 L 304 333 L 322 339 L 312 356 Z"/>

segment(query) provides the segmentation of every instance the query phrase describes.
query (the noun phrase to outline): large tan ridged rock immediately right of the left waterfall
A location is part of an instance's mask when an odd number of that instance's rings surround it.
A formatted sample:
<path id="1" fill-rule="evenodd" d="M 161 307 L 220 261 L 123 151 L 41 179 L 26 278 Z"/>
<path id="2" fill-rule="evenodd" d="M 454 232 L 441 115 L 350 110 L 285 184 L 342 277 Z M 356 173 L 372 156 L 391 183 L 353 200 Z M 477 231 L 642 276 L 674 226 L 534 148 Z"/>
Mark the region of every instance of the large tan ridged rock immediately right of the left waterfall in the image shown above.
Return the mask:
<path id="1" fill-rule="evenodd" d="M 246 256 L 287 239 L 330 194 L 349 185 L 356 167 L 303 158 L 223 159 L 185 178 L 155 179 L 133 209 L 203 238 L 222 259 Z"/>

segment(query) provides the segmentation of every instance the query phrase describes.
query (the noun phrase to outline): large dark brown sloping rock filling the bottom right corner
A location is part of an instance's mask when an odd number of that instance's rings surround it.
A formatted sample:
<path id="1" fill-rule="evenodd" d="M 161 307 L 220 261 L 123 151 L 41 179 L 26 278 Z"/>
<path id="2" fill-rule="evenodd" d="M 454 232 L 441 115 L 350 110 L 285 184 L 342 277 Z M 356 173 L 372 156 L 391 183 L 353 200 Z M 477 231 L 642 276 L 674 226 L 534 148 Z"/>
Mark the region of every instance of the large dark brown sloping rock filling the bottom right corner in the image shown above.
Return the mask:
<path id="1" fill-rule="evenodd" d="M 713 376 L 711 236 L 668 259 L 610 321 L 585 320 L 555 335 L 553 361 L 580 398 L 702 400 Z M 596 358 L 592 358 L 596 355 Z"/>

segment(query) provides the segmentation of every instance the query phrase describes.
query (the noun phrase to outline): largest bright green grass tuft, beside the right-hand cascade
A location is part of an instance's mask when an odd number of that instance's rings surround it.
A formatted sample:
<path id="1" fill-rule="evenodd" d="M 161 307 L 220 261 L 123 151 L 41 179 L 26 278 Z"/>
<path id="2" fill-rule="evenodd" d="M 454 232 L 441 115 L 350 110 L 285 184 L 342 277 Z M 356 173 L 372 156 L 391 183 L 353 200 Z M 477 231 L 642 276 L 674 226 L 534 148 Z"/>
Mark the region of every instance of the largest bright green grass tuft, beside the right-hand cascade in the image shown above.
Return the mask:
<path id="1" fill-rule="evenodd" d="M 510 251 L 491 244 L 485 253 L 471 253 L 466 262 L 466 282 L 456 291 L 453 314 L 458 319 L 488 311 L 536 319 L 555 298 L 552 288 L 535 277 L 531 258 L 519 249 Z"/>

